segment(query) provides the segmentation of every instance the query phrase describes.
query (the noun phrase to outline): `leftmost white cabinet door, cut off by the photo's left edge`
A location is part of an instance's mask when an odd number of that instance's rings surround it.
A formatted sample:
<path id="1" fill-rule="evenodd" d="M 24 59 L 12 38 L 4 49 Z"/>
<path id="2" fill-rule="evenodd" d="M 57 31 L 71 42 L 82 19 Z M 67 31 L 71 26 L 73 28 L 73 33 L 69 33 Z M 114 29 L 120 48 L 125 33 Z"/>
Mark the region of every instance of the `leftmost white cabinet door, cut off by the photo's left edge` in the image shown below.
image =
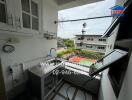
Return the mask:
<path id="1" fill-rule="evenodd" d="M 0 0 L 0 30 L 14 29 L 13 0 Z"/>

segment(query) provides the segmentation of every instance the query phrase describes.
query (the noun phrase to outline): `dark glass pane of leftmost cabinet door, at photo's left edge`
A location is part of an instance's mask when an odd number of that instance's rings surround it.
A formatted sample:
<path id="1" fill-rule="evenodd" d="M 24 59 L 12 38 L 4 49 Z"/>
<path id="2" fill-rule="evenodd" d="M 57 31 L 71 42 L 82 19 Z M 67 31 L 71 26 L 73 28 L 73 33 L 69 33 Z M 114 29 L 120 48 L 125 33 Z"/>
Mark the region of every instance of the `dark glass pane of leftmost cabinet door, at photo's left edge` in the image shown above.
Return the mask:
<path id="1" fill-rule="evenodd" d="M 6 23 L 5 4 L 1 4 L 1 3 L 0 3 L 0 22 Z"/>

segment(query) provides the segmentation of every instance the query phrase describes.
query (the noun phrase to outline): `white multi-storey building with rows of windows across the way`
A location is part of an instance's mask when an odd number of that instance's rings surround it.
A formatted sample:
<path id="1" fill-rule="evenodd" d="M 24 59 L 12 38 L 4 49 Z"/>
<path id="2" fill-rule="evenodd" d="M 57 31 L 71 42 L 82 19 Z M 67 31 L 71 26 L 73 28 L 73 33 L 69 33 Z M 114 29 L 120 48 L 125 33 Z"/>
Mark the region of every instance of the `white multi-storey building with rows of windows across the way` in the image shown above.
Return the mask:
<path id="1" fill-rule="evenodd" d="M 76 35 L 75 47 L 105 53 L 108 47 L 108 38 L 102 38 L 102 35 Z"/>

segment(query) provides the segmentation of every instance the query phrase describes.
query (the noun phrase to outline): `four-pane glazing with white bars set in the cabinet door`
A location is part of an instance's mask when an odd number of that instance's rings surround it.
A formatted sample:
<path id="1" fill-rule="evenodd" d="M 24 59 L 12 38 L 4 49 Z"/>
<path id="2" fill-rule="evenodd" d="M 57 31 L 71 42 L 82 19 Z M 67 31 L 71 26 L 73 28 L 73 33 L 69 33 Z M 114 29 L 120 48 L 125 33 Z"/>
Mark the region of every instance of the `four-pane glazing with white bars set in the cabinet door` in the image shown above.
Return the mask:
<path id="1" fill-rule="evenodd" d="M 32 0 L 21 0 L 23 27 L 39 30 L 38 4 Z"/>

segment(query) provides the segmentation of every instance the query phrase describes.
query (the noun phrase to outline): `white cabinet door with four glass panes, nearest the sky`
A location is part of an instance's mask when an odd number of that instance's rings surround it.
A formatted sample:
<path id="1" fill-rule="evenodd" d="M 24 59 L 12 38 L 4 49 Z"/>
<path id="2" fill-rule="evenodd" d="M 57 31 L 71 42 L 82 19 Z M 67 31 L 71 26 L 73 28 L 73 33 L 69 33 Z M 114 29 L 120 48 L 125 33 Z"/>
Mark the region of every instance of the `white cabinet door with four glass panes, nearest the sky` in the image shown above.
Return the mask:
<path id="1" fill-rule="evenodd" d="M 40 0 L 15 0 L 15 26 L 23 33 L 38 33 L 40 23 Z"/>

